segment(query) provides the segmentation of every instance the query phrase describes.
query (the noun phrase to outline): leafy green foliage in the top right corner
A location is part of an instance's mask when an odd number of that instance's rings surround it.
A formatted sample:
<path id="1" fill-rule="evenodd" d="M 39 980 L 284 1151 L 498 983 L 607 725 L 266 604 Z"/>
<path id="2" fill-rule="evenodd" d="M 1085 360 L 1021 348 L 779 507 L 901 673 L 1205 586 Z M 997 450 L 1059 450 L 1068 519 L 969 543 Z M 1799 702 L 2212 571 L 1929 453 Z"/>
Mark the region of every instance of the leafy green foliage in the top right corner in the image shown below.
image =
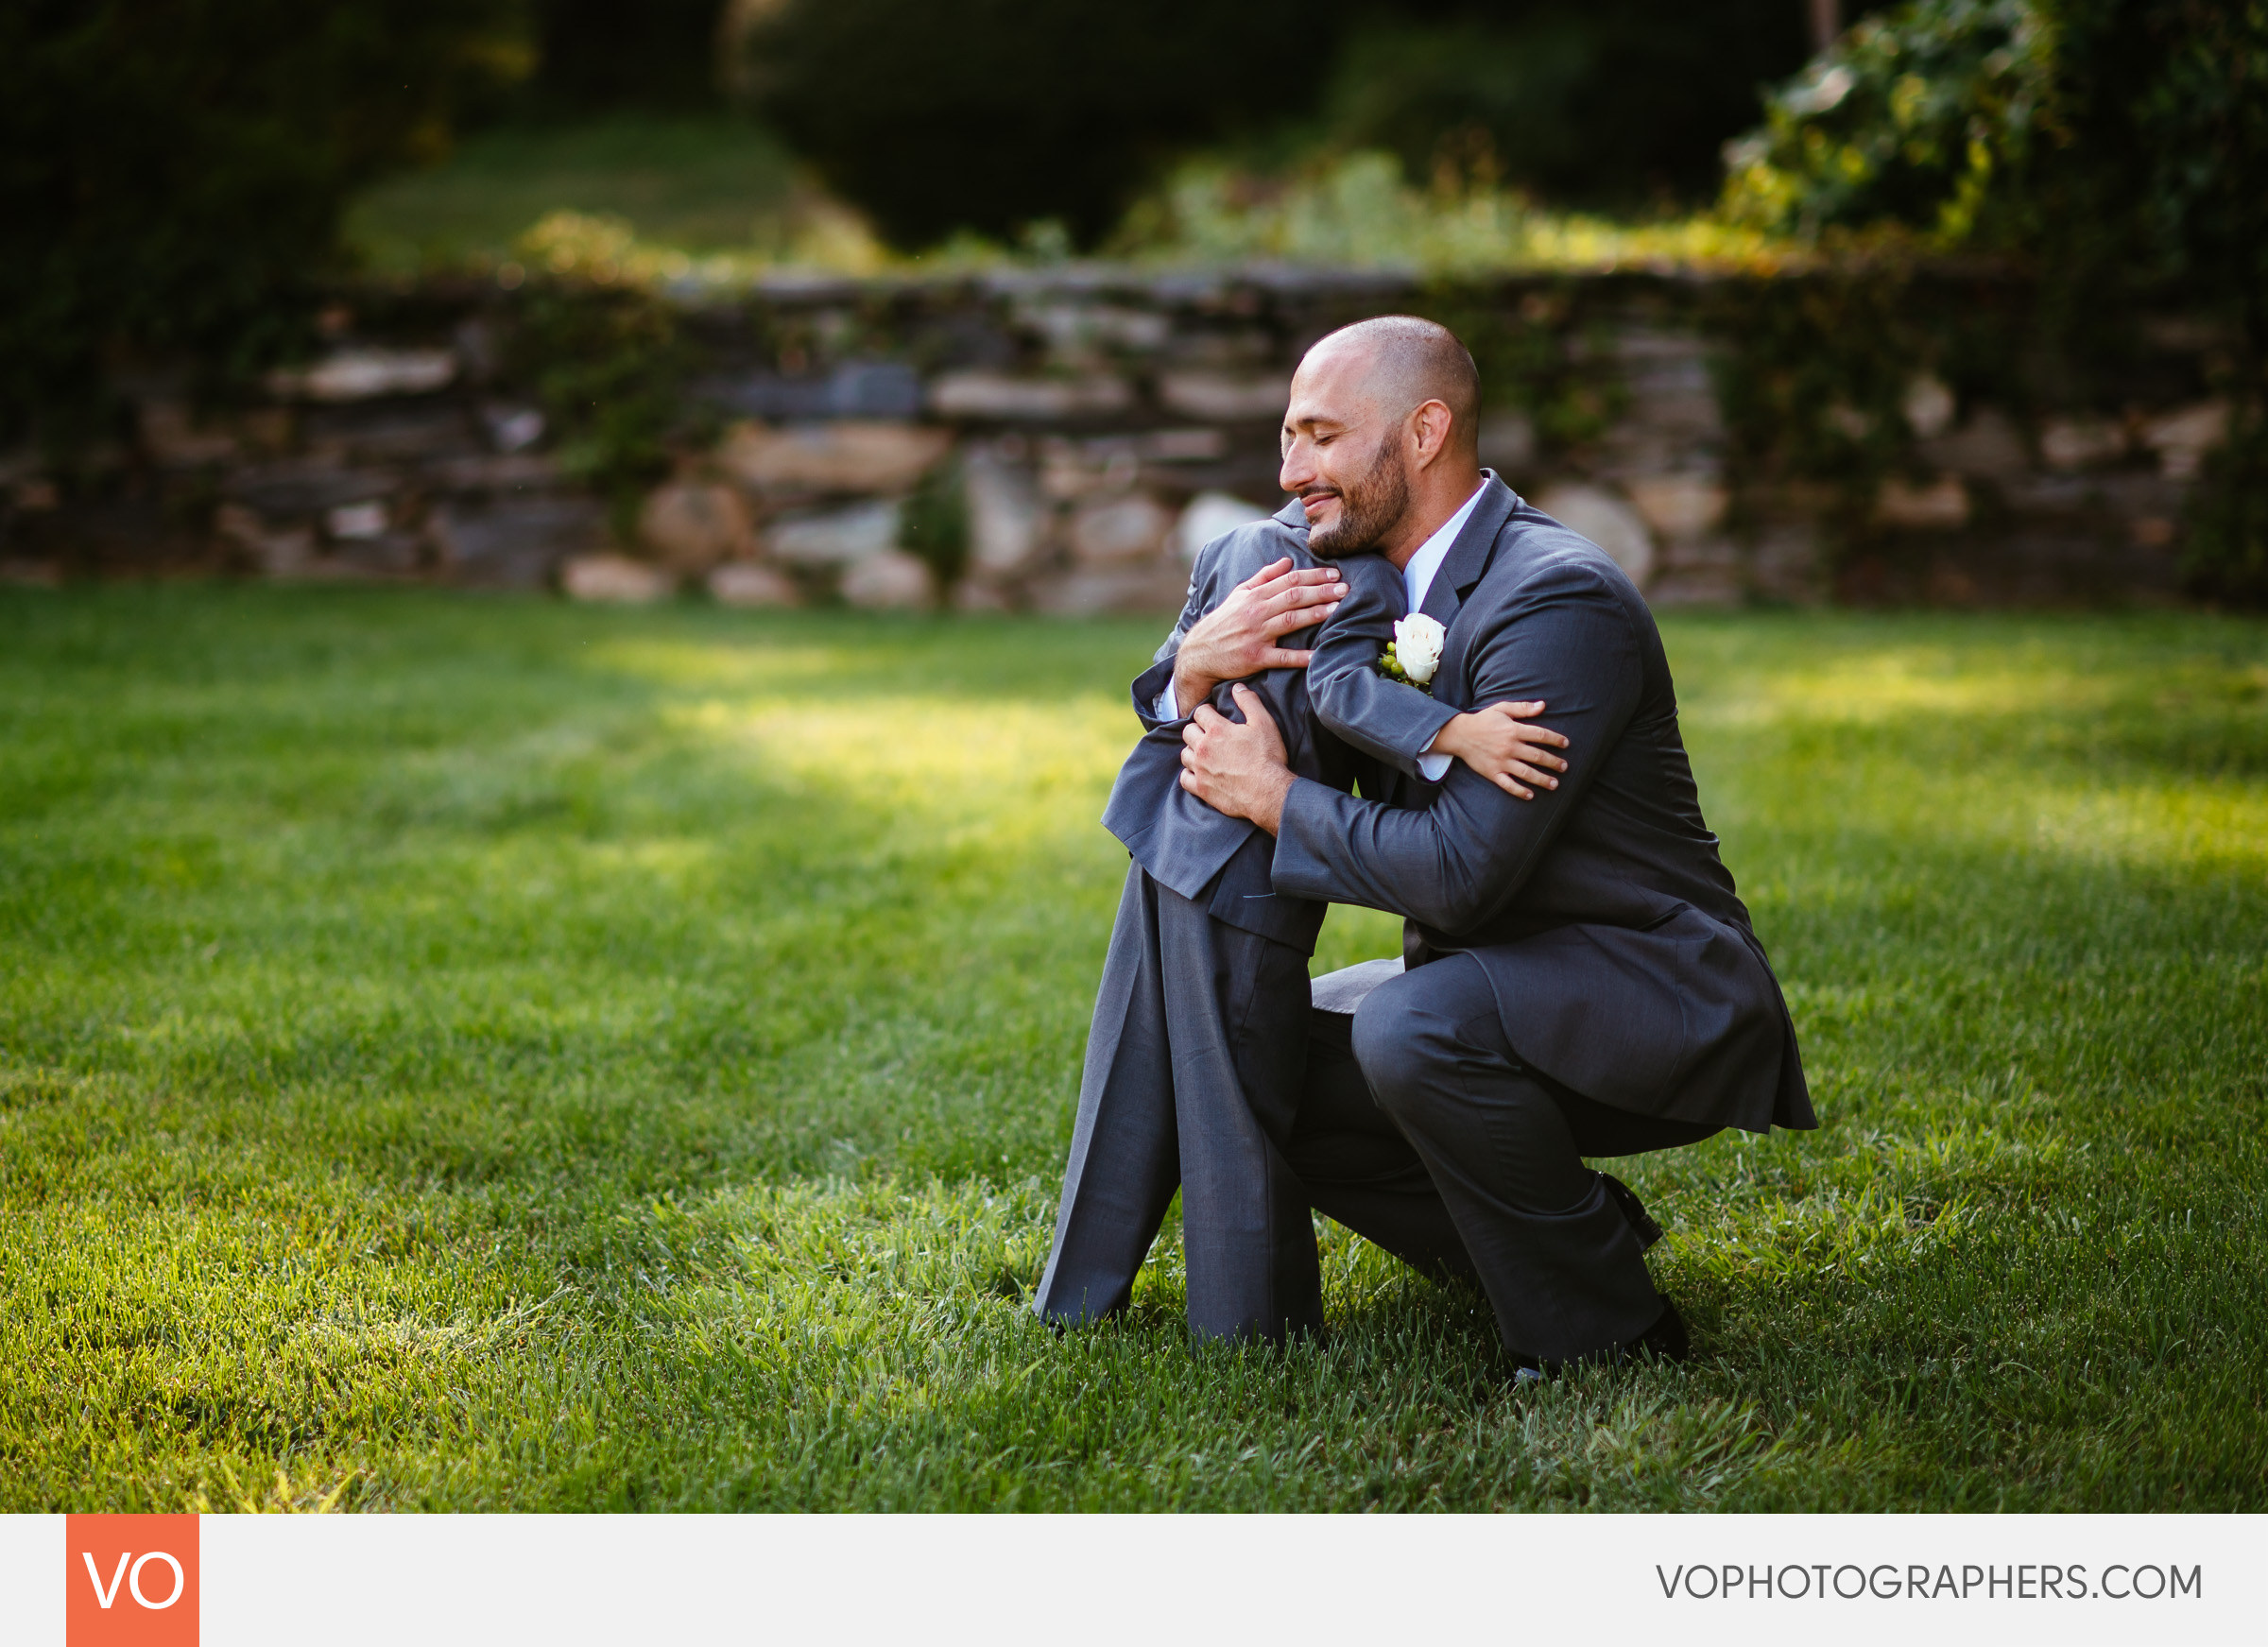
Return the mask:
<path id="1" fill-rule="evenodd" d="M 2030 265 L 2068 358 L 2148 309 L 2227 329 L 2229 440 L 2191 497 L 2195 588 L 2268 599 L 2268 0 L 1910 0 L 1735 145 L 1726 206 Z"/>

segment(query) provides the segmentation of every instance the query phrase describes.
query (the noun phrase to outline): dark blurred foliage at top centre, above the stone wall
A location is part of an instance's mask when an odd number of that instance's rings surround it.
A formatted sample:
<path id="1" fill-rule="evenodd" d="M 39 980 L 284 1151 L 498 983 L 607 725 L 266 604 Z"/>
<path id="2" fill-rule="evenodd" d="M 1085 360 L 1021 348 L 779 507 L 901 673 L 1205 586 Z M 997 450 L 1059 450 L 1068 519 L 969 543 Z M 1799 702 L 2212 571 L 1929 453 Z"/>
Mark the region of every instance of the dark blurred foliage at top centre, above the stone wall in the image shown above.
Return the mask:
<path id="1" fill-rule="evenodd" d="M 735 79 L 900 245 L 1093 243 L 1193 145 L 1383 147 L 1579 204 L 1706 195 L 1794 0 L 744 0 Z"/>

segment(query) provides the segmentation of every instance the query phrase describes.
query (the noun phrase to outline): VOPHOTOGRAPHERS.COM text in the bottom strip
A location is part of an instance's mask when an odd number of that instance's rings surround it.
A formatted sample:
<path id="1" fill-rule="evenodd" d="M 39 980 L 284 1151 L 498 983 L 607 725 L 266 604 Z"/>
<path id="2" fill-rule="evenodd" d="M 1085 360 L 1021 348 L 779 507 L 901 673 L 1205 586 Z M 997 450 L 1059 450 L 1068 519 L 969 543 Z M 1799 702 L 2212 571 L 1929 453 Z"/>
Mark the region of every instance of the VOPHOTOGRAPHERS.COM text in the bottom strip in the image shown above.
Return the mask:
<path id="1" fill-rule="evenodd" d="M 1880 1561 L 1873 1565 L 1749 1563 L 1665 1568 L 1656 1563 L 1656 1581 L 1672 1602 L 2175 1602 L 2204 1597 L 2204 1565 L 2161 1565 L 2155 1561 L 2089 1570 L 2084 1563 L 2055 1565 L 1926 1565 Z"/>

